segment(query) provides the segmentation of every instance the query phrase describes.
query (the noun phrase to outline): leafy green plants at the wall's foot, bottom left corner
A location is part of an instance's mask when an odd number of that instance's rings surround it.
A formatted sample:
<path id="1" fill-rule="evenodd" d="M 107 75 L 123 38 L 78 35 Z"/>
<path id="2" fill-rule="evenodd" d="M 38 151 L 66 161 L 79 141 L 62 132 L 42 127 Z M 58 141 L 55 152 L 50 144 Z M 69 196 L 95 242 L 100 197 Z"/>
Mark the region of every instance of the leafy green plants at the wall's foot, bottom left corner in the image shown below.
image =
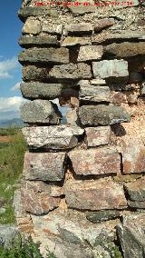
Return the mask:
<path id="1" fill-rule="evenodd" d="M 10 249 L 0 248 L 0 258 L 43 258 L 39 250 L 39 243 L 29 240 L 22 243 L 21 237 Z M 48 252 L 47 258 L 55 258 L 53 253 Z"/>

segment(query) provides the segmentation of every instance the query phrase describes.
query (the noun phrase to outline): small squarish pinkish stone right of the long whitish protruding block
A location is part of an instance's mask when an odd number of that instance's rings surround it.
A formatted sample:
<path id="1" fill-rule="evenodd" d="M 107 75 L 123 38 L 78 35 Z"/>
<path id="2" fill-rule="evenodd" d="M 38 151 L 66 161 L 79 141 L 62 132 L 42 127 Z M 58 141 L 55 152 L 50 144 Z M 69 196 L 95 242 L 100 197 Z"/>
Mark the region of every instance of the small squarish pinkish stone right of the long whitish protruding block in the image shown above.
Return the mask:
<path id="1" fill-rule="evenodd" d="M 109 144 L 111 140 L 110 126 L 97 126 L 85 128 L 87 144 L 89 147 Z"/>

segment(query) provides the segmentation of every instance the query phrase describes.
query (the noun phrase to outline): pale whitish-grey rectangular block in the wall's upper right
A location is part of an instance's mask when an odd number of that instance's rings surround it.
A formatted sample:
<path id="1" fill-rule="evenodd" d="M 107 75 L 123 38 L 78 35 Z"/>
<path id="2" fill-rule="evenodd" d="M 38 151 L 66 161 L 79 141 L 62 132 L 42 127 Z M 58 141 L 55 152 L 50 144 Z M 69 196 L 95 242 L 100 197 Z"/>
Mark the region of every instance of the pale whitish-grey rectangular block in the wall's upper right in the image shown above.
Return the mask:
<path id="1" fill-rule="evenodd" d="M 94 77 L 111 81 L 127 80 L 129 77 L 128 62 L 121 60 L 103 60 L 92 63 Z"/>

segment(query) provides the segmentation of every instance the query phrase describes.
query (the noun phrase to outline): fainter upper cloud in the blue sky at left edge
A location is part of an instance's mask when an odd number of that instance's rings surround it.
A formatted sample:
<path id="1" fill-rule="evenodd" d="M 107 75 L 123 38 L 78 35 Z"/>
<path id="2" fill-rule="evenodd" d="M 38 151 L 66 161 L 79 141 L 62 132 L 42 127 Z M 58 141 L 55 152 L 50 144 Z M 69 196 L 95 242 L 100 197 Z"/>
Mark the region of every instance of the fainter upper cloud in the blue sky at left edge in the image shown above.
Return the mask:
<path id="1" fill-rule="evenodd" d="M 13 75 L 10 74 L 15 68 L 19 65 L 16 56 L 0 61 L 0 79 L 9 79 L 12 78 Z"/>

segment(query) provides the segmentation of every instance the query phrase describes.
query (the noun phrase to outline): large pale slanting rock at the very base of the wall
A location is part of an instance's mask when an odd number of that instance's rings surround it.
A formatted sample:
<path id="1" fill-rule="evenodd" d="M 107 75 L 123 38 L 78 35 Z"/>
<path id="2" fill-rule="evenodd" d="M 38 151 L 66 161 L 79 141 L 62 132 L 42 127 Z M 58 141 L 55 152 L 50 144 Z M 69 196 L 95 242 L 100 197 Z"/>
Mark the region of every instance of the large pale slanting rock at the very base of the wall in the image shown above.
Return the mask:
<path id="1" fill-rule="evenodd" d="M 32 220 L 34 239 L 42 240 L 43 235 L 41 247 L 46 250 L 46 246 L 49 246 L 50 252 L 58 258 L 92 258 L 97 254 L 110 253 L 105 243 L 112 246 L 114 227 L 117 224 L 116 220 L 109 223 L 91 223 L 86 220 L 84 213 L 73 210 L 65 213 L 55 210 L 41 217 L 32 215 Z"/>

